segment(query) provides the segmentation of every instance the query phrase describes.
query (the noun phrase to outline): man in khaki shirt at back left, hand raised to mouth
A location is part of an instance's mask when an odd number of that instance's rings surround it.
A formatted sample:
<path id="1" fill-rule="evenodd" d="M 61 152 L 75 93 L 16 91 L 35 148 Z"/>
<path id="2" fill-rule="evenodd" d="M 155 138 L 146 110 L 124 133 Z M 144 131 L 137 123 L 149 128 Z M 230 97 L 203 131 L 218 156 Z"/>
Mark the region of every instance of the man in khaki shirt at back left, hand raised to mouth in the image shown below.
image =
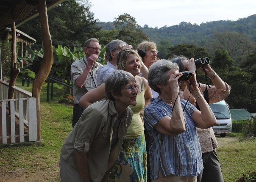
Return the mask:
<path id="1" fill-rule="evenodd" d="M 102 64 L 96 61 L 101 50 L 97 39 L 86 40 L 83 50 L 86 54 L 85 57 L 72 63 L 70 69 L 74 97 L 72 127 L 75 126 L 84 110 L 78 105 L 79 99 L 88 91 L 97 87 L 97 70 L 102 66 Z"/>

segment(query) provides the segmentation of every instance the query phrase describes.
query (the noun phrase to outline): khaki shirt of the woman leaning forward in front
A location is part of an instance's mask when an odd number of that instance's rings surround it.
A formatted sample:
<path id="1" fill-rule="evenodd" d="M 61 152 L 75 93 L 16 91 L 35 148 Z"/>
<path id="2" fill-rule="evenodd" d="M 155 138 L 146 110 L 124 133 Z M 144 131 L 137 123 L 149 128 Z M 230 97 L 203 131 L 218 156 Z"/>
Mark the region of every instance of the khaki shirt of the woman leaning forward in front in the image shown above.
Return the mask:
<path id="1" fill-rule="evenodd" d="M 101 181 L 106 171 L 116 162 L 122 141 L 131 123 L 132 111 L 128 107 L 122 114 L 118 128 L 118 142 L 111 150 L 114 122 L 118 119 L 114 101 L 105 100 L 90 105 L 68 135 L 61 148 L 61 156 L 78 169 L 74 150 L 87 154 L 89 174 L 93 181 Z"/>

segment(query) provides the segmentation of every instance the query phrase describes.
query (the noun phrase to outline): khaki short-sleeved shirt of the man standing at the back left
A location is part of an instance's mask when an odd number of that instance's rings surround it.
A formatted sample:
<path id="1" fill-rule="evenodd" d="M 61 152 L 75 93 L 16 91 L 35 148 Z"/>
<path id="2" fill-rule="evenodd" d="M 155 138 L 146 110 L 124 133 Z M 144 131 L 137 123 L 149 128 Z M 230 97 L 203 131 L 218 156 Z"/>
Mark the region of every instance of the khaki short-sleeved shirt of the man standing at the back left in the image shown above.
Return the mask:
<path id="1" fill-rule="evenodd" d="M 95 65 L 92 66 L 92 69 L 90 70 L 90 73 L 88 74 L 88 77 L 83 87 L 78 88 L 77 86 L 75 86 L 75 80 L 83 73 L 83 70 L 86 68 L 86 65 L 88 65 L 88 61 L 85 56 L 83 59 L 80 59 L 72 63 L 70 68 L 70 75 L 73 81 L 73 97 L 75 99 L 75 104 L 78 104 L 79 99 L 81 99 L 81 97 L 84 94 L 86 94 L 88 91 L 91 91 L 93 88 L 97 87 L 97 70 L 100 68 L 100 66 L 102 66 L 102 64 L 98 62 L 96 62 Z"/>

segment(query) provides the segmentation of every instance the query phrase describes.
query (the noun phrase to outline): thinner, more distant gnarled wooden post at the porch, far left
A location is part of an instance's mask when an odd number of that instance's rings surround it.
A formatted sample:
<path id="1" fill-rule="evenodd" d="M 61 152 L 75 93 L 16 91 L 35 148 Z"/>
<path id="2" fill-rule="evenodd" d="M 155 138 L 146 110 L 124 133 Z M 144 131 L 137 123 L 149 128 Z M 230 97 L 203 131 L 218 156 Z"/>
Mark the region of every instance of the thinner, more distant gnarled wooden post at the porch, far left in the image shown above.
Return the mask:
<path id="1" fill-rule="evenodd" d="M 10 82 L 8 88 L 8 99 L 13 99 L 14 96 L 14 89 L 13 86 L 15 85 L 16 79 L 20 69 L 17 68 L 17 52 L 16 52 L 16 26 L 15 22 L 11 24 L 11 75 L 10 75 Z M 9 105 L 10 108 L 10 105 Z"/>

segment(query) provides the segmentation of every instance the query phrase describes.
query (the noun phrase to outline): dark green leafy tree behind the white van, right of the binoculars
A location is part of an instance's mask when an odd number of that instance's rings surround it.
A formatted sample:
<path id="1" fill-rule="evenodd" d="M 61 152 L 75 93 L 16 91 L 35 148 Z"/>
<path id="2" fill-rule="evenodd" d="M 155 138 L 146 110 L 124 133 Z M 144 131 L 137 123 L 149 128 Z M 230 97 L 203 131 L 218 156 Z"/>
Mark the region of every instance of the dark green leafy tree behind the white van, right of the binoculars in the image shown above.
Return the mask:
<path id="1" fill-rule="evenodd" d="M 234 66 L 234 61 L 226 50 L 215 51 L 211 67 L 232 88 L 225 99 L 231 108 L 251 109 L 251 105 L 255 105 L 255 91 L 250 86 L 252 74 Z"/>

